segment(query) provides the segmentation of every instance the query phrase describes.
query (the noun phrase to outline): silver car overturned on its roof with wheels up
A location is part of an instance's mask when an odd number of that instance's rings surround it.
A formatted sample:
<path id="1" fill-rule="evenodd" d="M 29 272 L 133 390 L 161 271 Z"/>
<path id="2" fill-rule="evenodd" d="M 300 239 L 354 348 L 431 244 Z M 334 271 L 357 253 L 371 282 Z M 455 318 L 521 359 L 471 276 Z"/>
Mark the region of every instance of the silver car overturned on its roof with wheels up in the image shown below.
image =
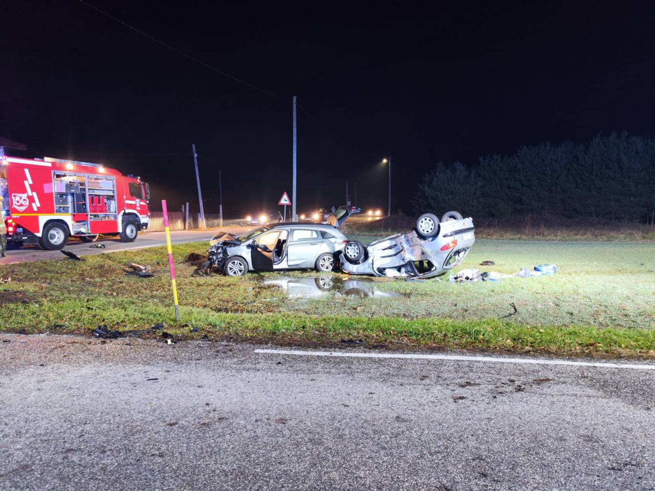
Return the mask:
<path id="1" fill-rule="evenodd" d="M 473 220 L 449 211 L 441 221 L 424 213 L 414 230 L 376 240 L 364 247 L 348 241 L 340 256 L 341 269 L 349 274 L 389 278 L 432 278 L 458 266 L 476 242 Z"/>

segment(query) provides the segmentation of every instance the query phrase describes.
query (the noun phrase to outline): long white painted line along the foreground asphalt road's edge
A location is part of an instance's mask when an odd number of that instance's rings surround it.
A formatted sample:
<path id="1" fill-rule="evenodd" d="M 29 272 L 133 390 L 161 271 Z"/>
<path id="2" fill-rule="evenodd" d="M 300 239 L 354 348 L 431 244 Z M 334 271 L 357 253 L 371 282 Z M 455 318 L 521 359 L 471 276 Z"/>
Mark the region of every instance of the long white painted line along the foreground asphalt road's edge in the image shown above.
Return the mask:
<path id="1" fill-rule="evenodd" d="M 429 355 L 407 353 L 346 353 L 328 351 L 301 351 L 301 350 L 255 350 L 255 353 L 271 355 L 296 356 L 331 356 L 345 358 L 405 358 L 405 359 L 436 359 L 447 361 L 486 361 L 489 363 L 523 363 L 525 365 L 569 365 L 573 367 L 599 367 L 630 370 L 655 370 L 655 365 L 637 365 L 631 363 L 600 363 L 595 361 L 571 361 L 565 359 L 541 358 L 502 358 L 495 356 L 462 356 L 462 355 Z"/>

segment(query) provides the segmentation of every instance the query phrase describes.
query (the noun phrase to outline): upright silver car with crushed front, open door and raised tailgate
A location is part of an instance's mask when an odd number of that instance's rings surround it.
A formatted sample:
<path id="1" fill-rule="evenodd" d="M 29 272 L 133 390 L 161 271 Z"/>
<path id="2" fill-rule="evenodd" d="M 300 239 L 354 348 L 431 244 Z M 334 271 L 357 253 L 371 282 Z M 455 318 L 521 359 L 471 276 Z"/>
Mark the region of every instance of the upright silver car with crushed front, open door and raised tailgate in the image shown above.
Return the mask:
<path id="1" fill-rule="evenodd" d="M 328 217 L 329 223 L 269 223 L 244 234 L 217 232 L 202 270 L 227 276 L 243 276 L 248 271 L 331 271 L 347 242 L 337 227 L 359 211 L 355 206 L 340 207 Z"/>

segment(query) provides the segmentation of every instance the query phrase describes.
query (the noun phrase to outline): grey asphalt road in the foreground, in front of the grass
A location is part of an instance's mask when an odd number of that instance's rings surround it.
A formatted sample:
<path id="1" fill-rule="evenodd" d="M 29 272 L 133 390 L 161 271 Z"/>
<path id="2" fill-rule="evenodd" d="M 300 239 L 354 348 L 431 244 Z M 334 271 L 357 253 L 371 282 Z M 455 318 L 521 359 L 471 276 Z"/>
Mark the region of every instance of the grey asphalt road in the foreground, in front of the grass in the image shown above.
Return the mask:
<path id="1" fill-rule="evenodd" d="M 0 340 L 2 490 L 655 488 L 655 371 Z"/>

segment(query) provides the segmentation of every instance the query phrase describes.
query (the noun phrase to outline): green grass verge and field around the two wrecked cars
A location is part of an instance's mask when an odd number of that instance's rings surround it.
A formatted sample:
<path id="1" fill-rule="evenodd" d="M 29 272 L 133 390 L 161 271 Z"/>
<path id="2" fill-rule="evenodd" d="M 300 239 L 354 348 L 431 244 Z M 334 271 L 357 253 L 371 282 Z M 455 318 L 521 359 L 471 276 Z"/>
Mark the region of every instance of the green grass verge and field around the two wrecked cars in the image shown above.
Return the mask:
<path id="1" fill-rule="evenodd" d="M 173 317 L 165 249 L 153 247 L 89 256 L 81 262 L 0 266 L 1 277 L 12 277 L 11 283 L 0 285 L 0 331 L 88 335 L 98 325 L 107 325 L 160 336 L 149 327 L 164 322 L 168 333 L 188 339 L 329 346 L 354 339 L 362 340 L 362 346 L 401 349 L 655 358 L 655 281 L 652 267 L 646 266 L 655 263 L 652 244 L 535 242 L 519 247 L 513 241 L 481 240 L 464 266 L 494 259 L 497 270 L 513 272 L 521 265 L 554 262 L 559 271 L 553 277 L 500 283 L 369 283 L 381 293 L 396 294 L 389 298 L 352 295 L 350 290 L 315 298 L 290 295 L 291 283 L 313 284 L 315 272 L 191 278 L 194 267 L 184 258 L 205 248 L 174 246 L 180 324 Z M 127 261 L 150 264 L 157 276 L 131 276 L 124 271 Z M 502 319 L 510 302 L 519 311 Z"/>

